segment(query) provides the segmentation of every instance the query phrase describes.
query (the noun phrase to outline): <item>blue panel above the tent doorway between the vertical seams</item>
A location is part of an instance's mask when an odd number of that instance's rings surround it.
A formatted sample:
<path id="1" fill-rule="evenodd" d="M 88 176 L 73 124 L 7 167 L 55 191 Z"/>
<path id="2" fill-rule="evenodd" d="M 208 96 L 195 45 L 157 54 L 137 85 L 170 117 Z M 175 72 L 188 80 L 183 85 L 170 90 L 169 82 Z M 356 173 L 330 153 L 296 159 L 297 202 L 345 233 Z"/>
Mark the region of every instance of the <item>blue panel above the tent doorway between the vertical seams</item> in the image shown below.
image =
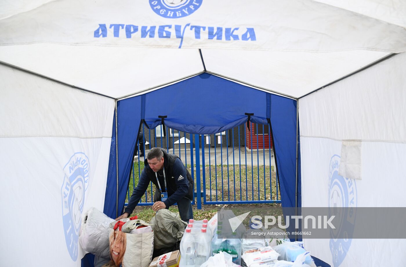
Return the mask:
<path id="1" fill-rule="evenodd" d="M 266 92 L 203 73 L 146 94 L 145 121 L 191 134 L 216 134 L 236 127 L 245 113 L 266 124 Z M 170 100 L 170 101 L 169 101 Z M 171 104 L 168 104 L 171 103 Z"/>

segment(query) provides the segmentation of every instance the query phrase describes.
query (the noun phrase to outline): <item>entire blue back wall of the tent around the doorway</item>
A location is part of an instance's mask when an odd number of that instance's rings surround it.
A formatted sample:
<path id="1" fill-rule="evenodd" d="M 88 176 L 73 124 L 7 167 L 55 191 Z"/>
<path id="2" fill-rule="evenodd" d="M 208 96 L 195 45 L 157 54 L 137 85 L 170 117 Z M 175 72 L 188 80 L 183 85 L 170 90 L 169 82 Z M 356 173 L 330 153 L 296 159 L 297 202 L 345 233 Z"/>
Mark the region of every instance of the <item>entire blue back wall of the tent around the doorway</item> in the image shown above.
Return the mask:
<path id="1" fill-rule="evenodd" d="M 215 134 L 232 129 L 253 113 L 253 123 L 267 125 L 270 117 L 282 205 L 295 206 L 296 100 L 263 92 L 212 74 L 203 73 L 117 103 L 119 215 L 124 206 L 132 155 L 142 119 L 150 129 L 167 116 L 167 127 L 190 134 Z M 115 137 L 115 125 L 113 136 Z M 116 161 L 112 138 L 104 212 L 116 215 Z M 113 145 L 114 143 L 114 145 Z"/>

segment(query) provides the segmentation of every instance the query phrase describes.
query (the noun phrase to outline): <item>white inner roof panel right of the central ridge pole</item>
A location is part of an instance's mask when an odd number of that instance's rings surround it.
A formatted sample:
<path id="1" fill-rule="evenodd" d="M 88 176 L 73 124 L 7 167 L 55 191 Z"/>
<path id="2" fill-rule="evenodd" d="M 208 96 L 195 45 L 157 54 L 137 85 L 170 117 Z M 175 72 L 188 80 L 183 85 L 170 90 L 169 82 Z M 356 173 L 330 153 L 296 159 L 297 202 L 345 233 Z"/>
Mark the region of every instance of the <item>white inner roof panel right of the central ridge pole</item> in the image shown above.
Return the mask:
<path id="1" fill-rule="evenodd" d="M 207 70 L 255 86 L 300 97 L 388 53 L 202 50 Z"/>

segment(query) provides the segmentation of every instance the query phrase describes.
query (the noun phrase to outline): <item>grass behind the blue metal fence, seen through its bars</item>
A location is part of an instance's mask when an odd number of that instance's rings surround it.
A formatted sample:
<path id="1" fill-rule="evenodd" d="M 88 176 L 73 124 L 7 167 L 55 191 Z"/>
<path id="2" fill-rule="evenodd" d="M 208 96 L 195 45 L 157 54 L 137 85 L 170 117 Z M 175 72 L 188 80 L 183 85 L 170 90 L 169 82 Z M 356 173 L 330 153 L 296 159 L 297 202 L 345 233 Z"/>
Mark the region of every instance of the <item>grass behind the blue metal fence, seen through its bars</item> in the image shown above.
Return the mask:
<path id="1" fill-rule="evenodd" d="M 139 162 L 140 167 L 139 171 L 142 172 L 144 169 L 144 162 Z M 193 166 L 196 168 L 196 165 Z M 191 165 L 188 164 L 187 168 L 191 173 Z M 259 176 L 258 176 L 259 168 Z M 221 169 L 223 171 L 223 176 L 221 177 Z M 276 200 L 276 173 L 273 169 L 270 170 L 270 166 L 245 166 L 233 165 L 228 166 L 229 175 L 227 176 L 227 165 L 206 165 L 205 166 L 205 189 L 206 189 L 206 200 L 210 201 L 210 191 L 212 193 L 211 201 L 216 201 L 216 196 L 218 201 L 234 201 L 235 200 L 270 200 L 271 192 L 270 186 L 272 184 L 272 200 Z M 264 169 L 265 169 L 265 178 L 264 178 Z M 217 170 L 217 176 L 216 176 Z M 134 184 L 138 184 L 138 162 L 134 162 L 134 176 L 131 173 L 130 178 L 130 196 L 134 188 Z M 194 171 L 194 173 L 196 173 Z M 203 168 L 200 168 L 201 177 L 203 177 Z M 209 175 L 211 173 L 211 176 Z M 246 178 L 247 174 L 247 178 Z M 228 179 L 229 177 L 229 179 Z M 272 177 L 272 183 L 271 183 Z M 133 182 L 134 181 L 134 182 Z M 210 183 L 211 181 L 211 183 Z M 241 181 L 241 186 L 240 186 Z M 217 182 L 217 188 L 216 188 Z M 259 190 L 258 190 L 259 188 Z M 222 190 L 223 189 L 223 190 Z M 235 194 L 234 194 L 235 189 Z M 241 189 L 241 190 L 240 190 Z M 196 190 L 196 184 L 195 184 Z M 279 190 L 279 188 L 278 188 Z M 201 191 L 203 192 L 203 179 L 201 179 Z M 258 197 L 259 191 L 259 197 Z M 145 201 L 145 195 L 141 197 L 141 202 L 151 202 L 151 195 L 155 193 L 155 186 L 151 186 L 147 189 L 147 201 Z M 279 193 L 278 193 L 279 195 Z M 278 200 L 280 200 L 280 195 Z M 126 202 L 128 202 L 128 193 L 126 197 Z"/>

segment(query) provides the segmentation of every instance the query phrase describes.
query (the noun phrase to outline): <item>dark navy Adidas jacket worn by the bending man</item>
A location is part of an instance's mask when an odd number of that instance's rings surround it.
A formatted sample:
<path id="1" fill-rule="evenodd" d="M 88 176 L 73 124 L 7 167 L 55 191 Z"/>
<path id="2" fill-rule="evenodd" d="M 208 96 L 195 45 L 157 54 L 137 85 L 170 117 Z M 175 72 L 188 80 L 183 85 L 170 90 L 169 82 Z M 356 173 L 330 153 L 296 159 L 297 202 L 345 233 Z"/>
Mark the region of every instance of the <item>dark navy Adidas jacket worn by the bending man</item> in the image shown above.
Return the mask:
<path id="1" fill-rule="evenodd" d="M 188 197 L 190 200 L 192 200 L 194 184 L 190 173 L 186 170 L 185 166 L 177 155 L 168 154 L 164 149 L 161 150 L 164 153 L 166 190 L 164 190 L 165 183 L 163 170 L 159 171 L 157 175 L 162 190 L 168 192 L 168 199 L 163 201 L 166 208 L 169 208 L 183 197 Z M 145 167 L 141 173 L 138 185 L 132 191 L 130 201 L 128 201 L 128 206 L 124 210 L 124 212 L 128 212 L 129 214 L 133 212 L 135 206 L 137 206 L 141 197 L 144 195 L 145 190 L 147 190 L 149 186 L 149 182 L 152 182 L 155 185 L 156 190 L 159 190 L 155 173 L 149 167 L 147 159 L 145 159 L 144 164 Z"/>

